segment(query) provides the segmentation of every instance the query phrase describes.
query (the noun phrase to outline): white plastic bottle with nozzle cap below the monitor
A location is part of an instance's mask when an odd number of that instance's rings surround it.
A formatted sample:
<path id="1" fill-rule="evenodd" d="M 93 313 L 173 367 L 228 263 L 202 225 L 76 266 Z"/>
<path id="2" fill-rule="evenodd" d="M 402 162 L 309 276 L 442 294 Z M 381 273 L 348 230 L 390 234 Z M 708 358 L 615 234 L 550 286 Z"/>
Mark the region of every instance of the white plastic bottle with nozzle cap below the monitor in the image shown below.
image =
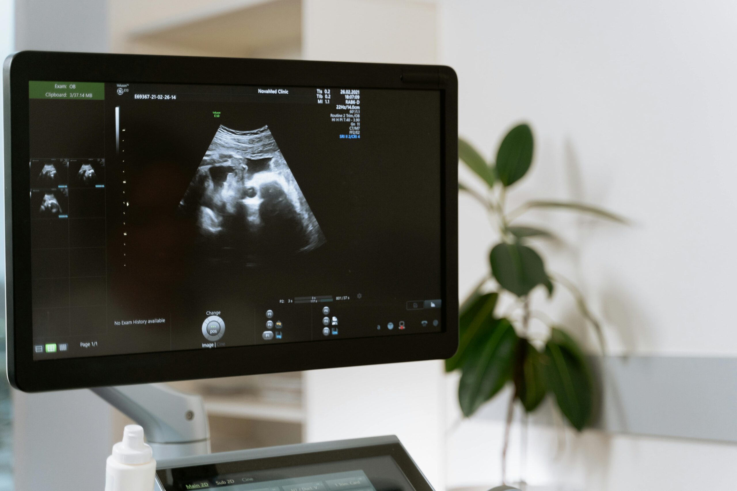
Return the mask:
<path id="1" fill-rule="evenodd" d="M 123 441 L 113 445 L 105 472 L 105 491 L 153 491 L 156 460 L 143 441 L 143 428 L 128 425 Z"/>

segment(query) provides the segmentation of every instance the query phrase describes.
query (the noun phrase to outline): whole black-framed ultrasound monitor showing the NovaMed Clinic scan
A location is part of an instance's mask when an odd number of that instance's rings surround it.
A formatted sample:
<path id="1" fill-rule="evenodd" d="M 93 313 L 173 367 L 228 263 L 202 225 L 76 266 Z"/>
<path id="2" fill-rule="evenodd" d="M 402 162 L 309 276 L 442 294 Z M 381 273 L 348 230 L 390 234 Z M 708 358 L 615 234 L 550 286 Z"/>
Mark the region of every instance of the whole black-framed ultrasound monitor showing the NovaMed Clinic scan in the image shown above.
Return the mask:
<path id="1" fill-rule="evenodd" d="M 451 68 L 21 52 L 8 373 L 34 392 L 451 356 Z"/>

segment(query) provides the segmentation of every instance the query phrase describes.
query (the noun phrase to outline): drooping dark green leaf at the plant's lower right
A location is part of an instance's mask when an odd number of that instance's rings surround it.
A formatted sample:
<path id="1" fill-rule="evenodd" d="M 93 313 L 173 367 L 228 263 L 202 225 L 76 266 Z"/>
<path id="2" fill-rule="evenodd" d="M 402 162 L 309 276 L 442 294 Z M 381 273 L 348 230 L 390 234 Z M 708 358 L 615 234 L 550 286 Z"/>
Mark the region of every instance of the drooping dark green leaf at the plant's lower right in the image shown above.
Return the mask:
<path id="1" fill-rule="evenodd" d="M 581 431 L 593 414 L 594 384 L 588 361 L 579 345 L 553 328 L 545 345 L 545 384 L 574 428 Z"/>

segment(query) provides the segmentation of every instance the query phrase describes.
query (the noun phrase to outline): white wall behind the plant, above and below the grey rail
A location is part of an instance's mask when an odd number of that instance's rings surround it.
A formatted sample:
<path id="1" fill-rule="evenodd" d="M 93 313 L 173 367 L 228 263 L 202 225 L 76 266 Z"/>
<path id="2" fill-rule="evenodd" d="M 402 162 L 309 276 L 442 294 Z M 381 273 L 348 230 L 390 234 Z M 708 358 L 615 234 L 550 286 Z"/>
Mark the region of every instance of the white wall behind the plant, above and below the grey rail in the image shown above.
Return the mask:
<path id="1" fill-rule="evenodd" d="M 440 18 L 440 61 L 460 81 L 461 135 L 488 156 L 511 124 L 534 127 L 536 163 L 512 201 L 585 199 L 635 221 L 590 227 L 560 213 L 531 216 L 565 227 L 576 244 L 578 252 L 545 252 L 604 317 L 609 353 L 735 356 L 737 4 L 447 0 Z M 475 203 L 462 197 L 460 206 L 467 291 L 493 234 L 478 227 L 486 219 Z M 558 296 L 549 311 L 569 319 L 572 305 Z M 450 485 L 498 479 L 500 429 L 476 420 L 452 434 Z M 531 431 L 529 482 L 691 490 L 731 489 L 737 478 L 735 445 L 567 438 L 558 453 L 553 431 Z M 519 451 L 511 456 L 514 475 Z"/>

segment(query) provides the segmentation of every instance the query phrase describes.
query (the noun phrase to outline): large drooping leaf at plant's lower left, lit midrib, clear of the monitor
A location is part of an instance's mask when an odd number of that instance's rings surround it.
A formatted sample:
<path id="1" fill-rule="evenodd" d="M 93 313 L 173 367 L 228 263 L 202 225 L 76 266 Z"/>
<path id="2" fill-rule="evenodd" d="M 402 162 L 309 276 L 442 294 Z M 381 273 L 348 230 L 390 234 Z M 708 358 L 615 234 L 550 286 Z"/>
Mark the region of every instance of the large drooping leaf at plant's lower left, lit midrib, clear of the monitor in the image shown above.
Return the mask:
<path id="1" fill-rule="evenodd" d="M 509 321 L 500 319 L 486 339 L 469 346 L 458 384 L 458 401 L 465 416 L 473 414 L 511 379 L 518 339 Z"/>

